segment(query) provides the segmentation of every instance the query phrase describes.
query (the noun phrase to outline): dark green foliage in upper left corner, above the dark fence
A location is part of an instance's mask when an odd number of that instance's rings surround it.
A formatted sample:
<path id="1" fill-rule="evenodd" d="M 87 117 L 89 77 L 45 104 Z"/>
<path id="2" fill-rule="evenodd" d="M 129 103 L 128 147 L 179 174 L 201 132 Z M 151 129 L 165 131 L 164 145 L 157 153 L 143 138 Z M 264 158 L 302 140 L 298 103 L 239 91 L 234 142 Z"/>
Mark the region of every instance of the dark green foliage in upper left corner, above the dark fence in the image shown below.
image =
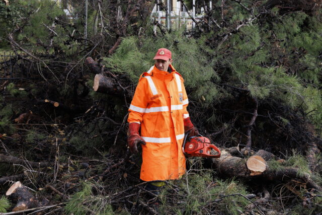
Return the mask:
<path id="1" fill-rule="evenodd" d="M 82 44 L 72 40 L 68 34 L 73 32 L 73 37 L 81 38 L 79 31 L 83 32 L 83 20 L 68 20 L 57 1 L 14 0 L 10 1 L 9 6 L 4 6 L 2 2 L 0 4 L 0 18 L 3 18 L 0 20 L 5 21 L 0 22 L 0 27 L 5 29 L 0 32 L 0 37 L 6 38 L 8 33 L 19 28 L 14 34 L 15 40 L 23 45 L 32 45 L 37 52 L 72 56 L 79 51 Z M 3 40 L 3 44 L 1 42 L 0 47 L 8 43 L 6 40 Z"/>

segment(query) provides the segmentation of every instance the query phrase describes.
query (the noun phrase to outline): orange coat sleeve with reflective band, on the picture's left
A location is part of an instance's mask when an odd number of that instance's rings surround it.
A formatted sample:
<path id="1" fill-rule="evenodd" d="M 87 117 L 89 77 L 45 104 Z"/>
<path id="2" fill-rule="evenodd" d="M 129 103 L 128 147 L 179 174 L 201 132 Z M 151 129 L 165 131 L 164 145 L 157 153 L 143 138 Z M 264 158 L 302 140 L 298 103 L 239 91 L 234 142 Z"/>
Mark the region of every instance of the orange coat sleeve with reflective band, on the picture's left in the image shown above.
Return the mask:
<path id="1" fill-rule="evenodd" d="M 136 122 L 141 124 L 142 117 L 148 103 L 148 83 L 144 78 L 140 78 L 135 89 L 135 93 L 129 108 L 129 123 Z"/>

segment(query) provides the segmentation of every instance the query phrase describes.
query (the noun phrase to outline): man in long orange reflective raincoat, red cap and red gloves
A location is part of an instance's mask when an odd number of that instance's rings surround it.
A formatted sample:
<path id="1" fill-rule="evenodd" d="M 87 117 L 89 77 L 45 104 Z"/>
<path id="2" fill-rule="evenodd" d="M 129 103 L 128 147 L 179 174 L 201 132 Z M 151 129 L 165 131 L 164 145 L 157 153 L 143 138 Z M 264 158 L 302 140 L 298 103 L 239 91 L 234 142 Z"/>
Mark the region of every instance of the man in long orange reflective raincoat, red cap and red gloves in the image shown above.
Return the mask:
<path id="1" fill-rule="evenodd" d="M 142 144 L 143 181 L 178 179 L 186 169 L 184 134 L 198 131 L 190 121 L 184 81 L 171 64 L 171 51 L 160 48 L 153 59 L 155 64 L 141 75 L 129 108 L 128 147 L 137 153 L 137 144 Z"/>

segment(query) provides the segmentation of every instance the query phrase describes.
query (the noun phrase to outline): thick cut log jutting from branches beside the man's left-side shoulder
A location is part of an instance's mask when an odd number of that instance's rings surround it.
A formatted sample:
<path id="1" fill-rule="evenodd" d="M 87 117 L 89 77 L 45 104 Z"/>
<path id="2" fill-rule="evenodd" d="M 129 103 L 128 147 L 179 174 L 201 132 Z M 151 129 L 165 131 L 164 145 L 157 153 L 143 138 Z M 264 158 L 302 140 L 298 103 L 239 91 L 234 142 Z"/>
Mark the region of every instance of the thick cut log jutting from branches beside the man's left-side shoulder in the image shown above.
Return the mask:
<path id="1" fill-rule="evenodd" d="M 119 95 L 122 93 L 122 89 L 117 86 L 115 80 L 101 74 L 97 74 L 94 78 L 93 89 L 99 93 Z"/>

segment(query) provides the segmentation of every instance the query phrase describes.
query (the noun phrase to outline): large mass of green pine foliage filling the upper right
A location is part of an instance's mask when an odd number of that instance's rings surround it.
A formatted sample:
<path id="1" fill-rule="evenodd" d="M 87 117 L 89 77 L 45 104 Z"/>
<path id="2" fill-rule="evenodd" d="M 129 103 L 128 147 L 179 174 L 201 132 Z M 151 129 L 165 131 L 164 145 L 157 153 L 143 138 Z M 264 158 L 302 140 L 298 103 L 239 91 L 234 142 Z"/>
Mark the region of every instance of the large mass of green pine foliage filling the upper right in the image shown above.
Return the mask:
<path id="1" fill-rule="evenodd" d="M 244 12 L 238 8 L 229 9 L 235 12 L 233 23 L 245 19 Z M 279 16 L 276 10 L 273 13 Z M 220 79 L 226 80 L 224 84 L 247 89 L 258 100 L 301 108 L 320 128 L 322 24 L 318 16 L 303 12 L 275 21 L 262 22 L 265 29 L 256 22 L 241 27 L 238 34 L 219 43 L 212 60 L 224 68 L 220 73 Z M 229 98 L 229 92 L 230 89 L 221 93 L 224 100 Z"/>

